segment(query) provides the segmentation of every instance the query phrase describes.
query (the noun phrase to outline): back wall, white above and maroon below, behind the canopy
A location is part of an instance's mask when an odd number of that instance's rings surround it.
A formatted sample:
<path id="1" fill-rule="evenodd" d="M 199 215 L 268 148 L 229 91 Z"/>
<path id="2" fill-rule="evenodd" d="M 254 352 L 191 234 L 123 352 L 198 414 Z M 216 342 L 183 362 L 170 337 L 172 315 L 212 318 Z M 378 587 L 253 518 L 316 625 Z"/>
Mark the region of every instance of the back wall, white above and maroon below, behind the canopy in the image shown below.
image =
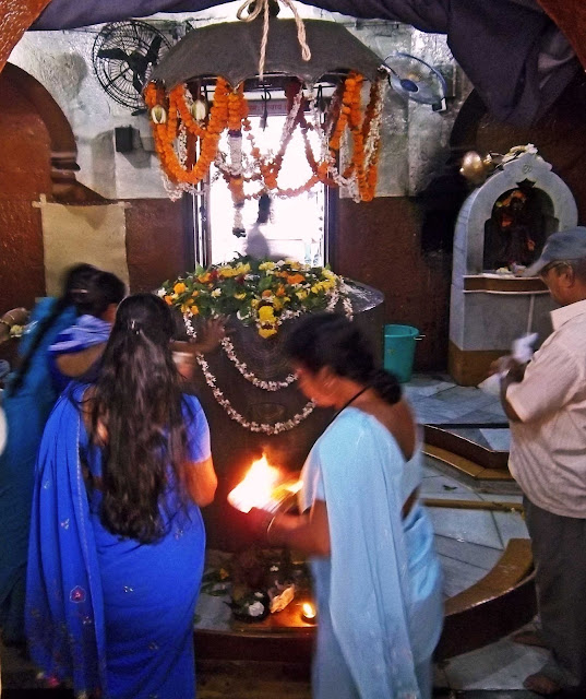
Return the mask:
<path id="1" fill-rule="evenodd" d="M 191 23 L 196 26 L 234 19 L 234 12 L 227 12 L 231 8 L 211 9 Z M 303 8 L 303 13 L 318 19 L 332 16 L 312 8 Z M 157 26 L 170 36 L 178 19 L 167 15 Z M 385 294 L 386 321 L 408 322 L 424 332 L 429 340 L 419 344 L 419 366 L 442 366 L 444 356 L 436 337 L 441 346 L 445 345 L 446 306 L 434 308 L 426 299 L 446 297 L 450 256 L 421 253 L 421 215 L 414 198 L 449 157 L 452 126 L 469 85 L 454 66 L 443 36 L 426 35 L 396 23 L 356 22 L 340 15 L 336 19 L 379 56 L 384 58 L 395 50 L 410 52 L 442 67 L 453 78 L 450 94 L 455 96 L 449 98 L 443 111 L 434 112 L 428 105 L 386 92 L 376 199 L 356 205 L 340 192 L 332 260 L 335 271 Z M 93 73 L 92 46 L 98 31 L 29 32 L 10 60 L 36 78 L 63 110 L 77 145 L 76 179 L 106 199 L 131 204 L 127 210 L 131 288 L 153 288 L 188 266 L 184 218 L 181 205 L 169 202 L 162 186 L 158 161 L 150 151 L 146 117 L 131 116 L 130 110 L 112 102 Z M 137 147 L 131 153 L 115 151 L 113 130 L 120 126 L 132 126 L 139 134 Z M 363 247 L 366 239 L 368 247 Z"/>

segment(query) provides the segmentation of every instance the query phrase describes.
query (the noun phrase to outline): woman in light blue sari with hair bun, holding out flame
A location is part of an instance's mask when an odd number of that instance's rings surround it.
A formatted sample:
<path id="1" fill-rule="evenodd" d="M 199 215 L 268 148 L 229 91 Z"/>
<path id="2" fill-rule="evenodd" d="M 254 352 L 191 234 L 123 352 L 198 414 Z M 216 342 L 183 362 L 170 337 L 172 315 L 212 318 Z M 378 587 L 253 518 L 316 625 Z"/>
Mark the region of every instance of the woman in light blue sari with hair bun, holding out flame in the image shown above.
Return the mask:
<path id="1" fill-rule="evenodd" d="M 302 514 L 277 514 L 266 530 L 312 557 L 313 696 L 428 699 L 443 604 L 410 410 L 342 316 L 306 317 L 285 351 L 303 393 L 337 410 L 303 466 Z"/>

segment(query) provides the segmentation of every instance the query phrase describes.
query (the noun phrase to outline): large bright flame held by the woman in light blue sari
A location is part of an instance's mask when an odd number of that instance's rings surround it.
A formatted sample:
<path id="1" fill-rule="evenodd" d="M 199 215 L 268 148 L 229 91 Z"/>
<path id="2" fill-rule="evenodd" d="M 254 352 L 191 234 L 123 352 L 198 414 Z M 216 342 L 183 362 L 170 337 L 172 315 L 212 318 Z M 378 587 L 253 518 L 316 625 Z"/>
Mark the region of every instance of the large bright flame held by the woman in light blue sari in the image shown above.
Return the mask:
<path id="1" fill-rule="evenodd" d="M 250 512 L 253 507 L 276 510 L 286 497 L 301 487 L 299 481 L 284 484 L 283 478 L 283 473 L 272 466 L 263 454 L 251 465 L 244 479 L 230 490 L 228 502 L 241 512 Z"/>

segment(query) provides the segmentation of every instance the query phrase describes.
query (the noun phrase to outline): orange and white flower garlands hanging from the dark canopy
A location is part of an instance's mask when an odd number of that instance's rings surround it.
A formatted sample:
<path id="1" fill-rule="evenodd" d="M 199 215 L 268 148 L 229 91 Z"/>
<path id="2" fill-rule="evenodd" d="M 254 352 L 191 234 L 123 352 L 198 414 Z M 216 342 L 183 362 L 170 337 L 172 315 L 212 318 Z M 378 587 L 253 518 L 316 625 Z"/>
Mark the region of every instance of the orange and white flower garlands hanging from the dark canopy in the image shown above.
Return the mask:
<path id="1" fill-rule="evenodd" d="M 325 126 L 321 123 L 314 107 L 314 97 L 308 102 L 303 85 L 299 81 L 291 81 L 287 88 L 288 115 L 280 146 L 274 155 L 263 155 L 254 143 L 243 84 L 232 88 L 224 78 L 218 76 L 213 105 L 206 117 L 200 120 L 193 116 L 193 98 L 186 85 L 177 85 L 165 93 L 160 85 L 148 83 L 144 97 L 163 171 L 171 185 L 180 190 L 195 187 L 215 163 L 228 183 L 236 206 L 246 199 L 260 197 L 264 191 L 272 191 L 278 197 L 296 197 L 320 181 L 328 186 L 349 187 L 356 201 L 370 201 L 374 197 L 378 176 L 382 81 L 381 78 L 371 84 L 369 104 L 362 111 L 364 79 L 350 72 L 332 99 Z M 313 94 L 312 90 L 310 94 Z M 313 111 L 313 123 L 308 123 L 306 119 L 307 104 Z M 302 133 L 306 158 L 312 174 L 299 187 L 282 188 L 278 176 L 297 127 Z M 309 131 L 316 133 L 322 141 L 319 155 L 313 153 Z M 340 174 L 335 163 L 346 131 L 352 139 L 351 156 Z M 190 134 L 187 149 L 191 149 L 191 152 L 187 157 L 180 155 L 182 132 Z M 224 133 L 228 134 L 229 154 L 219 147 Z M 244 151 L 244 140 L 249 144 L 248 151 Z M 256 186 L 252 193 L 244 188 L 251 183 Z"/>

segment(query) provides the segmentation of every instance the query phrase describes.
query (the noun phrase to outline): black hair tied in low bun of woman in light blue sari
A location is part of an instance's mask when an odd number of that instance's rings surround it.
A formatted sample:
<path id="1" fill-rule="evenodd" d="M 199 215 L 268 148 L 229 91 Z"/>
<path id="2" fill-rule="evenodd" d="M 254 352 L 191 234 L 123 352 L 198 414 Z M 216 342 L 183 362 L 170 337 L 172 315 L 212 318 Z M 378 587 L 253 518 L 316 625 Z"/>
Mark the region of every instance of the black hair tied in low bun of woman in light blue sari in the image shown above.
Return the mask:
<path id="1" fill-rule="evenodd" d="M 330 367 L 334 374 L 370 386 L 387 403 L 400 400 L 395 376 L 379 368 L 372 347 L 356 322 L 338 313 L 302 317 L 285 340 L 285 354 L 292 362 L 316 374 Z"/>

